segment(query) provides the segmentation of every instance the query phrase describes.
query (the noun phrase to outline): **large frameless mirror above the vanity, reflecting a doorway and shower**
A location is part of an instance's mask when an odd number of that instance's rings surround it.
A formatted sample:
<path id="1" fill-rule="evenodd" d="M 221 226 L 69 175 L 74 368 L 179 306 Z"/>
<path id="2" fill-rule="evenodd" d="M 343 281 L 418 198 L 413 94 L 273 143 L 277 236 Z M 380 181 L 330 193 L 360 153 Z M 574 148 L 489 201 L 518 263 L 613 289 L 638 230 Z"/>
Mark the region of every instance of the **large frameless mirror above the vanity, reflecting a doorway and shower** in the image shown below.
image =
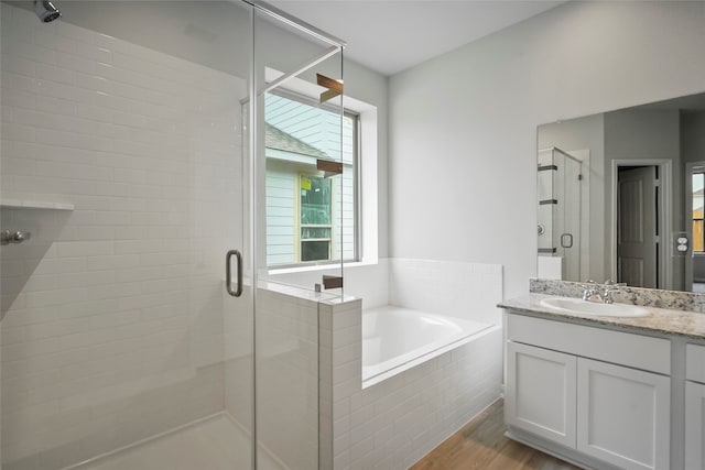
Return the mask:
<path id="1" fill-rule="evenodd" d="M 538 130 L 538 277 L 705 292 L 705 92 Z"/>

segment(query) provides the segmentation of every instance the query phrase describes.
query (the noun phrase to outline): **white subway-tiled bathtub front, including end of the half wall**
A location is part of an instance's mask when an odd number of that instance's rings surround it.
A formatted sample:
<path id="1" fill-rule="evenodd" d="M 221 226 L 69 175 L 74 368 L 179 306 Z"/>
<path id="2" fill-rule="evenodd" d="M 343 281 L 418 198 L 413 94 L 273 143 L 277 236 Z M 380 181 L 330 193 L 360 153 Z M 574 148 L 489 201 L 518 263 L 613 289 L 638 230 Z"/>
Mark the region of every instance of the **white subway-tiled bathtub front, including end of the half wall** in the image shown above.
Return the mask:
<path id="1" fill-rule="evenodd" d="M 502 332 L 362 390 L 360 314 L 319 306 L 321 468 L 405 469 L 497 400 Z"/>

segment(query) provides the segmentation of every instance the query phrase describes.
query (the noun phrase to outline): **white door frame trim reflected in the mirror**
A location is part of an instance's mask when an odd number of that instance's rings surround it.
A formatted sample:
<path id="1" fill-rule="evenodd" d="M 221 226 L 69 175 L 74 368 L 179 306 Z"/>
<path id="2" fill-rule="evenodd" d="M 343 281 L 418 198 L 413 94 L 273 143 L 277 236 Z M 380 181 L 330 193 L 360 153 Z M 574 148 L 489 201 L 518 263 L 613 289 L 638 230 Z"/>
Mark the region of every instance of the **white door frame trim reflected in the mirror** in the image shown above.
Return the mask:
<path id="1" fill-rule="evenodd" d="M 671 159 L 616 159 L 611 161 L 611 215 L 610 215 L 610 278 L 617 280 L 617 183 L 618 170 L 620 166 L 658 166 L 661 190 L 659 194 L 659 218 L 660 250 L 659 250 L 659 273 L 661 285 L 658 288 L 673 288 L 673 260 L 671 259 L 671 233 L 673 231 L 673 207 L 671 205 L 673 188 L 673 161 Z"/>

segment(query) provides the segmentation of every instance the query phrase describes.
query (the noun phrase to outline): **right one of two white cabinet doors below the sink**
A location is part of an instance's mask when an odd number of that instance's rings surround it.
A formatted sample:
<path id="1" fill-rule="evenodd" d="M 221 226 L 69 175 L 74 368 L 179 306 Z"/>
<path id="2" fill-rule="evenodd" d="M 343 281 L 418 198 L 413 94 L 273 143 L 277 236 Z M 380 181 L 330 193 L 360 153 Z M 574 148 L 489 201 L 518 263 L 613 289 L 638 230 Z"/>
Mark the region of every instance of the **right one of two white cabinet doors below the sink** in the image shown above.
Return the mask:
<path id="1" fill-rule="evenodd" d="M 577 449 L 623 469 L 668 469 L 671 381 L 579 358 Z"/>

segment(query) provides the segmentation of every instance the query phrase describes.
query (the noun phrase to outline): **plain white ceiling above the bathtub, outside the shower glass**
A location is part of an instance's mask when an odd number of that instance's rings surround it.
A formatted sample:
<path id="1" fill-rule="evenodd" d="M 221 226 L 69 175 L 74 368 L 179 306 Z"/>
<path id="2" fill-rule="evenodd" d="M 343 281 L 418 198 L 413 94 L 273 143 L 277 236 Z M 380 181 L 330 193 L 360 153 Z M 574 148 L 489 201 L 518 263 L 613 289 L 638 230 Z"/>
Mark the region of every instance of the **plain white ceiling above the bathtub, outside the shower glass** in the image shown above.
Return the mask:
<path id="1" fill-rule="evenodd" d="M 348 58 L 394 75 L 564 1 L 270 0 L 347 42 Z"/>

